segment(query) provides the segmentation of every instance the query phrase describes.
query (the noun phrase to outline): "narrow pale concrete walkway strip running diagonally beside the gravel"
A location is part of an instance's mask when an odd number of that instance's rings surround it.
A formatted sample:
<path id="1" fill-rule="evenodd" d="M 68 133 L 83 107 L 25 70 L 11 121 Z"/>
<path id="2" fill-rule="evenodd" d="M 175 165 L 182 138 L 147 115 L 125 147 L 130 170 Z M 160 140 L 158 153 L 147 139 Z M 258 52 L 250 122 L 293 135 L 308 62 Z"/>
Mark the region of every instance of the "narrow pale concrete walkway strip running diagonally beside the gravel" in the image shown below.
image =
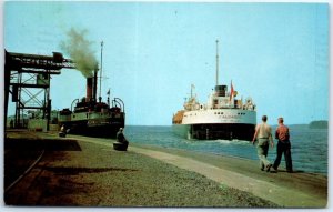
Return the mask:
<path id="1" fill-rule="evenodd" d="M 101 142 L 98 139 L 91 140 L 85 138 L 78 138 L 79 140 L 95 143 L 99 145 L 111 147 L 111 142 Z M 251 174 L 241 174 L 235 171 L 230 171 L 223 168 L 201 162 L 191 158 L 167 153 L 162 151 L 143 149 L 139 147 L 129 147 L 129 151 L 144 154 L 165 163 L 176 165 L 181 169 L 200 173 L 213 181 L 221 183 L 221 186 L 231 186 L 241 191 L 251 192 L 256 196 L 272 201 L 285 208 L 325 208 L 327 204 L 327 196 L 323 198 L 322 193 L 312 192 L 309 190 L 300 190 L 299 186 L 281 186 L 268 180 L 259 180 Z M 244 164 L 246 165 L 246 164 Z M 240 168 L 241 169 L 241 168 Z M 253 173 L 252 173 L 253 175 Z M 302 182 L 300 182 L 302 183 Z"/>

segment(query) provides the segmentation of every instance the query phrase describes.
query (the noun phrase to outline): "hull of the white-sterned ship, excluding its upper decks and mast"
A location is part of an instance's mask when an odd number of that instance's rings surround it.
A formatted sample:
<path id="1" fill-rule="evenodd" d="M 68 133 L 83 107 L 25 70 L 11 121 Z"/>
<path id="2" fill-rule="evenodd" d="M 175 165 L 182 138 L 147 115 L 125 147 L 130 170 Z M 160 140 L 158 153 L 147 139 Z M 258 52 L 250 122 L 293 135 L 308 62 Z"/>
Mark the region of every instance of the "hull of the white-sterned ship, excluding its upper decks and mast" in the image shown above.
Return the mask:
<path id="1" fill-rule="evenodd" d="M 185 139 L 251 140 L 256 112 L 241 109 L 186 111 L 182 123 L 172 125 L 173 132 Z"/>

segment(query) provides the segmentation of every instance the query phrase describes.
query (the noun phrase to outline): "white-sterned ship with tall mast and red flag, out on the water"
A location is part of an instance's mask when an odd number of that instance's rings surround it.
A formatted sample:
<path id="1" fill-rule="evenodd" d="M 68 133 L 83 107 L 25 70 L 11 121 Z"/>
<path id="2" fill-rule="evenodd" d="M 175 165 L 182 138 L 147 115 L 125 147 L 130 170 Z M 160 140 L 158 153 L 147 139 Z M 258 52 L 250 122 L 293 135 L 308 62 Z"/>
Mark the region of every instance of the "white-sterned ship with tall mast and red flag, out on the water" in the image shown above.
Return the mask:
<path id="1" fill-rule="evenodd" d="M 245 102 L 236 99 L 238 92 L 228 85 L 219 84 L 219 41 L 216 40 L 216 85 L 210 94 L 208 103 L 199 103 L 191 95 L 184 103 L 184 109 L 172 118 L 172 129 L 175 134 L 185 139 L 198 140 L 246 140 L 251 141 L 256 124 L 256 108 L 251 98 Z"/>

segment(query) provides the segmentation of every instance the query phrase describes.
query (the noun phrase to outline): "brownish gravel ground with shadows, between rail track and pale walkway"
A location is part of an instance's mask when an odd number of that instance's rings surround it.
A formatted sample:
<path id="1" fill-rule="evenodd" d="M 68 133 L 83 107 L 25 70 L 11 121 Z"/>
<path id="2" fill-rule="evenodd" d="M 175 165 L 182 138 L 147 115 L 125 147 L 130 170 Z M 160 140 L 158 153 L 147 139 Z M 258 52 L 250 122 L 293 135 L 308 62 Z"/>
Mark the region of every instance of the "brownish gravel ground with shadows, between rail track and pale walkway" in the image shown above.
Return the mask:
<path id="1" fill-rule="evenodd" d="M 42 161 L 4 194 L 7 205 L 279 206 L 134 151 L 114 151 L 111 143 L 43 142 Z"/>

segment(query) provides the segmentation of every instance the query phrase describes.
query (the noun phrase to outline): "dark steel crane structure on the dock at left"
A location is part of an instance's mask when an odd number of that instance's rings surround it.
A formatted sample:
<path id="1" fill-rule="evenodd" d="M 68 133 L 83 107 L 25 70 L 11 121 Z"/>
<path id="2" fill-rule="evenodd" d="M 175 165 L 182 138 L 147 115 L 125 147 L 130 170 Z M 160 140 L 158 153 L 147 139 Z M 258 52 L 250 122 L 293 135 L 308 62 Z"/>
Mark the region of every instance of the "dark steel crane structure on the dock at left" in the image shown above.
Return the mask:
<path id="1" fill-rule="evenodd" d="M 61 69 L 75 69 L 75 65 L 59 52 L 53 52 L 53 55 L 39 55 L 4 50 L 4 125 L 9 94 L 12 97 L 11 101 L 16 102 L 14 128 L 24 127 L 24 110 L 40 110 L 41 118 L 47 119 L 49 125 L 50 79 L 52 74 L 60 74 Z"/>

